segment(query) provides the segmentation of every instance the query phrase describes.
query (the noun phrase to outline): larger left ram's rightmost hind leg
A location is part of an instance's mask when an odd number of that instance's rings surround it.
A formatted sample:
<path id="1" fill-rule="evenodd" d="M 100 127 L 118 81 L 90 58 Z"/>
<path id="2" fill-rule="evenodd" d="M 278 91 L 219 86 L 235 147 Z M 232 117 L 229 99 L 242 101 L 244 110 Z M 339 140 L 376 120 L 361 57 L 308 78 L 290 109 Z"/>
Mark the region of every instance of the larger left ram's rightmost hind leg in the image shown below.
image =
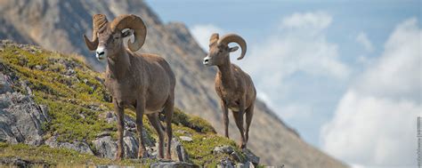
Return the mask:
<path id="1" fill-rule="evenodd" d="M 174 96 L 170 96 L 166 101 L 164 107 L 164 114 L 166 116 L 166 134 L 167 134 L 167 148 L 166 148 L 166 159 L 172 159 L 171 156 L 171 144 L 173 138 L 172 131 L 172 117 L 174 112 Z"/>

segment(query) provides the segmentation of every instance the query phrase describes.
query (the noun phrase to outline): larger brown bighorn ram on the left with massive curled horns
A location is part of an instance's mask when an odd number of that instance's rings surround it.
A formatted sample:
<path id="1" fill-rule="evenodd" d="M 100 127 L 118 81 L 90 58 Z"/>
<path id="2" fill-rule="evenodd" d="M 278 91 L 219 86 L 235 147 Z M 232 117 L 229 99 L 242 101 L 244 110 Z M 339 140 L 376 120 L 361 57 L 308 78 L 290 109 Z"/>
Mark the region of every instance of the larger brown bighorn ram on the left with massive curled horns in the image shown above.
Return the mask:
<path id="1" fill-rule="evenodd" d="M 129 30 L 123 31 L 128 28 Z M 123 31 L 123 32 L 122 32 Z M 164 156 L 164 135 L 158 120 L 158 112 L 166 115 L 166 158 L 171 159 L 172 115 L 174 110 L 174 73 L 161 57 L 153 54 L 134 53 L 139 50 L 146 37 L 142 19 L 135 15 L 121 15 L 107 20 L 104 14 L 93 15 L 93 41 L 84 35 L 87 48 L 96 51 L 98 60 L 107 59 L 105 85 L 113 97 L 118 117 L 118 152 L 116 159 L 124 156 L 123 131 L 124 108 L 136 111 L 136 130 L 139 137 L 138 158 L 148 156 L 142 140 L 142 117 L 147 115 L 150 124 L 158 132 L 158 156 Z M 123 38 L 134 35 L 134 42 Z"/>

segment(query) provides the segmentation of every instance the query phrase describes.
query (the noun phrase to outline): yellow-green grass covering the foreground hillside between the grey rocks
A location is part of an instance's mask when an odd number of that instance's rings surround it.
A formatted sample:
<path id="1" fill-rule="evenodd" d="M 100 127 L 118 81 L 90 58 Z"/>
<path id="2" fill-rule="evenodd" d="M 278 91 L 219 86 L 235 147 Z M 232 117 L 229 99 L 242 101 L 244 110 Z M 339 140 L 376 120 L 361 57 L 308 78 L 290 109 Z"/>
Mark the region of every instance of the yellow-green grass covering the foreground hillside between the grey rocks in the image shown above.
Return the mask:
<path id="1" fill-rule="evenodd" d="M 110 94 L 102 84 L 101 74 L 86 66 L 82 57 L 3 41 L 0 44 L 0 62 L 4 67 L 3 73 L 12 78 L 14 91 L 30 94 L 37 104 L 48 107 L 51 122 L 43 125 L 45 140 L 55 135 L 61 142 L 77 140 L 90 144 L 101 132 L 112 132 L 112 137 L 116 139 L 115 124 L 109 124 L 101 117 L 102 113 L 112 110 Z M 133 117 L 134 112 L 126 110 L 126 115 Z M 144 117 L 144 120 L 148 136 L 157 139 L 148 119 Z M 216 146 L 228 145 L 239 151 L 233 140 L 215 134 L 215 129 L 198 116 L 187 115 L 176 108 L 173 124 L 176 137 L 191 136 L 192 141 L 181 142 L 193 164 L 215 165 L 223 158 L 232 159 L 228 154 L 212 154 Z M 90 147 L 94 150 L 92 144 Z M 142 164 L 133 159 L 115 162 L 82 155 L 67 148 L 0 143 L 0 158 L 9 157 L 53 165 Z M 147 160 L 143 164 L 150 162 L 155 161 Z"/>

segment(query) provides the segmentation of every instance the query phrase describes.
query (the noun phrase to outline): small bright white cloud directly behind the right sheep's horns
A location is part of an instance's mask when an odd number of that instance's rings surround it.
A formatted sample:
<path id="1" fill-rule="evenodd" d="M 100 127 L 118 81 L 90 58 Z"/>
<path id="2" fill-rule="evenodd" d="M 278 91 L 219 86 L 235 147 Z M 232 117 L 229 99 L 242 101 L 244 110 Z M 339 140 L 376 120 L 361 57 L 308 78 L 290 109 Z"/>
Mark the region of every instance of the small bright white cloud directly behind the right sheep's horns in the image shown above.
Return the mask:
<path id="1" fill-rule="evenodd" d="M 218 28 L 215 25 L 195 25 L 191 28 L 191 33 L 205 51 L 208 51 L 209 37 L 214 33 L 224 34 L 223 28 Z"/>

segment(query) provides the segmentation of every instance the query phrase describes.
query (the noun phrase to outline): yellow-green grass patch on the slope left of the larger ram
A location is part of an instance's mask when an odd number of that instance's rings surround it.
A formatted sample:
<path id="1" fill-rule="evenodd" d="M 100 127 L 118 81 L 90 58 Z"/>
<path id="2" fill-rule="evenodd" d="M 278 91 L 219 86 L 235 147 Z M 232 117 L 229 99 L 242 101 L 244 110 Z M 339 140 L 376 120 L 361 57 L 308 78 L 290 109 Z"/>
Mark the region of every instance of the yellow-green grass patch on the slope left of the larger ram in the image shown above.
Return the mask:
<path id="1" fill-rule="evenodd" d="M 56 52 L 33 53 L 13 46 L 4 48 L 0 56 L 8 70 L 20 81 L 27 81 L 37 104 L 47 105 L 52 117 L 51 123 L 44 126 L 47 135 L 57 134 L 59 141 L 89 143 L 100 132 L 115 131 L 114 124 L 98 118 L 100 113 L 111 110 L 111 103 L 106 101 L 110 95 L 95 79 L 100 75 L 80 60 Z M 73 67 L 75 74 L 66 75 L 64 62 Z M 18 84 L 14 89 L 26 91 Z M 90 106 L 98 106 L 100 110 L 92 110 Z"/>

